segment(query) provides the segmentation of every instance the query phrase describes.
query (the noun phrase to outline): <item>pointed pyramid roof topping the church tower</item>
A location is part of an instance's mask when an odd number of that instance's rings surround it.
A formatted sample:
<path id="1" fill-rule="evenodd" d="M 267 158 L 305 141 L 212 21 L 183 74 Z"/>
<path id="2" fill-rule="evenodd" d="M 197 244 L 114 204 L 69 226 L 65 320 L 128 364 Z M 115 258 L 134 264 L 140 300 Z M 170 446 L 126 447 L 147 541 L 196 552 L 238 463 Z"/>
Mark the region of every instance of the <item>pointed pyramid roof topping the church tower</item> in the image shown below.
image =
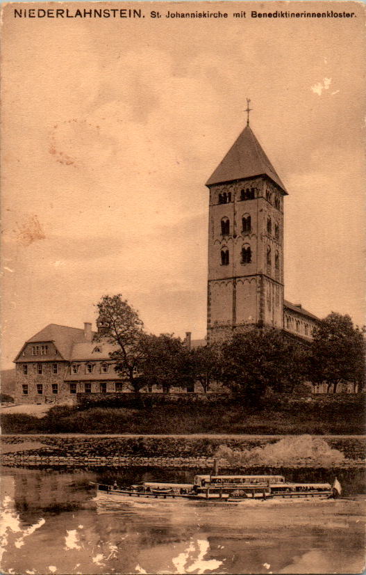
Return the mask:
<path id="1" fill-rule="evenodd" d="M 253 178 L 255 175 L 267 175 L 287 195 L 285 186 L 278 177 L 276 170 L 269 162 L 251 128 L 247 125 L 206 182 L 206 186 Z"/>

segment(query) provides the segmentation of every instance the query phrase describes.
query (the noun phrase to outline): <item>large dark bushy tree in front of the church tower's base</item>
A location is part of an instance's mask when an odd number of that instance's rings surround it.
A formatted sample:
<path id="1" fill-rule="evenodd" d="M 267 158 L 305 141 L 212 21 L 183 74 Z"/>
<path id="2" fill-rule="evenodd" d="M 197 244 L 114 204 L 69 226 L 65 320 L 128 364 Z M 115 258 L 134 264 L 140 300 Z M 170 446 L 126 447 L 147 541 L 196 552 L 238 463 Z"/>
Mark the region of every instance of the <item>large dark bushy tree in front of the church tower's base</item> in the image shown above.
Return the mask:
<path id="1" fill-rule="evenodd" d="M 252 329 L 235 333 L 232 340 L 222 346 L 222 379 L 233 393 L 248 404 L 256 405 L 267 388 L 288 391 L 300 381 L 301 373 L 294 361 L 288 362 L 294 347 L 286 342 L 276 329 Z M 303 367 L 299 366 L 300 370 Z"/>

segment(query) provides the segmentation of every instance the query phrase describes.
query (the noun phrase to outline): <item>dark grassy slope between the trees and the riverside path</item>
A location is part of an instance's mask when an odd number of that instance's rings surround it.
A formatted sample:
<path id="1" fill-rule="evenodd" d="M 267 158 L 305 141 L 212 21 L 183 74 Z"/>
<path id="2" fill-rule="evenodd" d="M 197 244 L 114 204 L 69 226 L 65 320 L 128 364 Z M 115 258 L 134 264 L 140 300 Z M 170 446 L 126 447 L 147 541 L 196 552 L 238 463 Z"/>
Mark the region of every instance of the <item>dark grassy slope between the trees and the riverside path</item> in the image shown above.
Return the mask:
<path id="1" fill-rule="evenodd" d="M 41 419 L 9 413 L 1 424 L 6 434 L 363 434 L 363 402 L 363 397 L 354 396 L 334 402 L 268 398 L 255 411 L 235 403 L 151 409 L 53 407 Z"/>

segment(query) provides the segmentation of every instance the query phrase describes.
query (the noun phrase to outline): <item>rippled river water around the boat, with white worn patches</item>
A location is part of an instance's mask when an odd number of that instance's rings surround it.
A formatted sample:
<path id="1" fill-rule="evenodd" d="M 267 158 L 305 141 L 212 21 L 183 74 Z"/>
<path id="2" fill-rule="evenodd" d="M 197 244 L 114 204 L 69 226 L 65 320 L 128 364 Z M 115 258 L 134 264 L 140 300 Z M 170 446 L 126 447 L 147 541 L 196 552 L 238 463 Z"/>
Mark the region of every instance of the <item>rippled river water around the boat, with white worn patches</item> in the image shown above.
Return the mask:
<path id="1" fill-rule="evenodd" d="M 336 501 L 94 501 L 113 471 L 2 471 L 9 574 L 360 573 L 365 496 Z M 193 473 L 193 472 L 192 472 Z M 191 472 L 118 471 L 119 482 L 192 480 Z"/>

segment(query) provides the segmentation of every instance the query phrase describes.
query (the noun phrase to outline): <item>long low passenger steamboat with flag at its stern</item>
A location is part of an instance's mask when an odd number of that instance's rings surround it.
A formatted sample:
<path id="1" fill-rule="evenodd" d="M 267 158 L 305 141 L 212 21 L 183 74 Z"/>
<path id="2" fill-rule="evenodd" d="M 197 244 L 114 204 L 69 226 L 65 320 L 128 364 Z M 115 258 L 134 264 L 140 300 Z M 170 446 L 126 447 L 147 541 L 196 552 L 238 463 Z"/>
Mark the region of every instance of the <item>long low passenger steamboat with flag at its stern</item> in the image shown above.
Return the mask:
<path id="1" fill-rule="evenodd" d="M 97 485 L 97 498 L 104 501 L 123 501 L 136 498 L 140 501 L 224 501 L 240 502 L 246 500 L 265 501 L 272 498 L 314 499 L 335 498 L 340 496 L 342 488 L 335 479 L 330 483 L 287 482 L 283 475 L 196 475 L 194 482 L 165 483 L 142 482 L 129 487 Z"/>

